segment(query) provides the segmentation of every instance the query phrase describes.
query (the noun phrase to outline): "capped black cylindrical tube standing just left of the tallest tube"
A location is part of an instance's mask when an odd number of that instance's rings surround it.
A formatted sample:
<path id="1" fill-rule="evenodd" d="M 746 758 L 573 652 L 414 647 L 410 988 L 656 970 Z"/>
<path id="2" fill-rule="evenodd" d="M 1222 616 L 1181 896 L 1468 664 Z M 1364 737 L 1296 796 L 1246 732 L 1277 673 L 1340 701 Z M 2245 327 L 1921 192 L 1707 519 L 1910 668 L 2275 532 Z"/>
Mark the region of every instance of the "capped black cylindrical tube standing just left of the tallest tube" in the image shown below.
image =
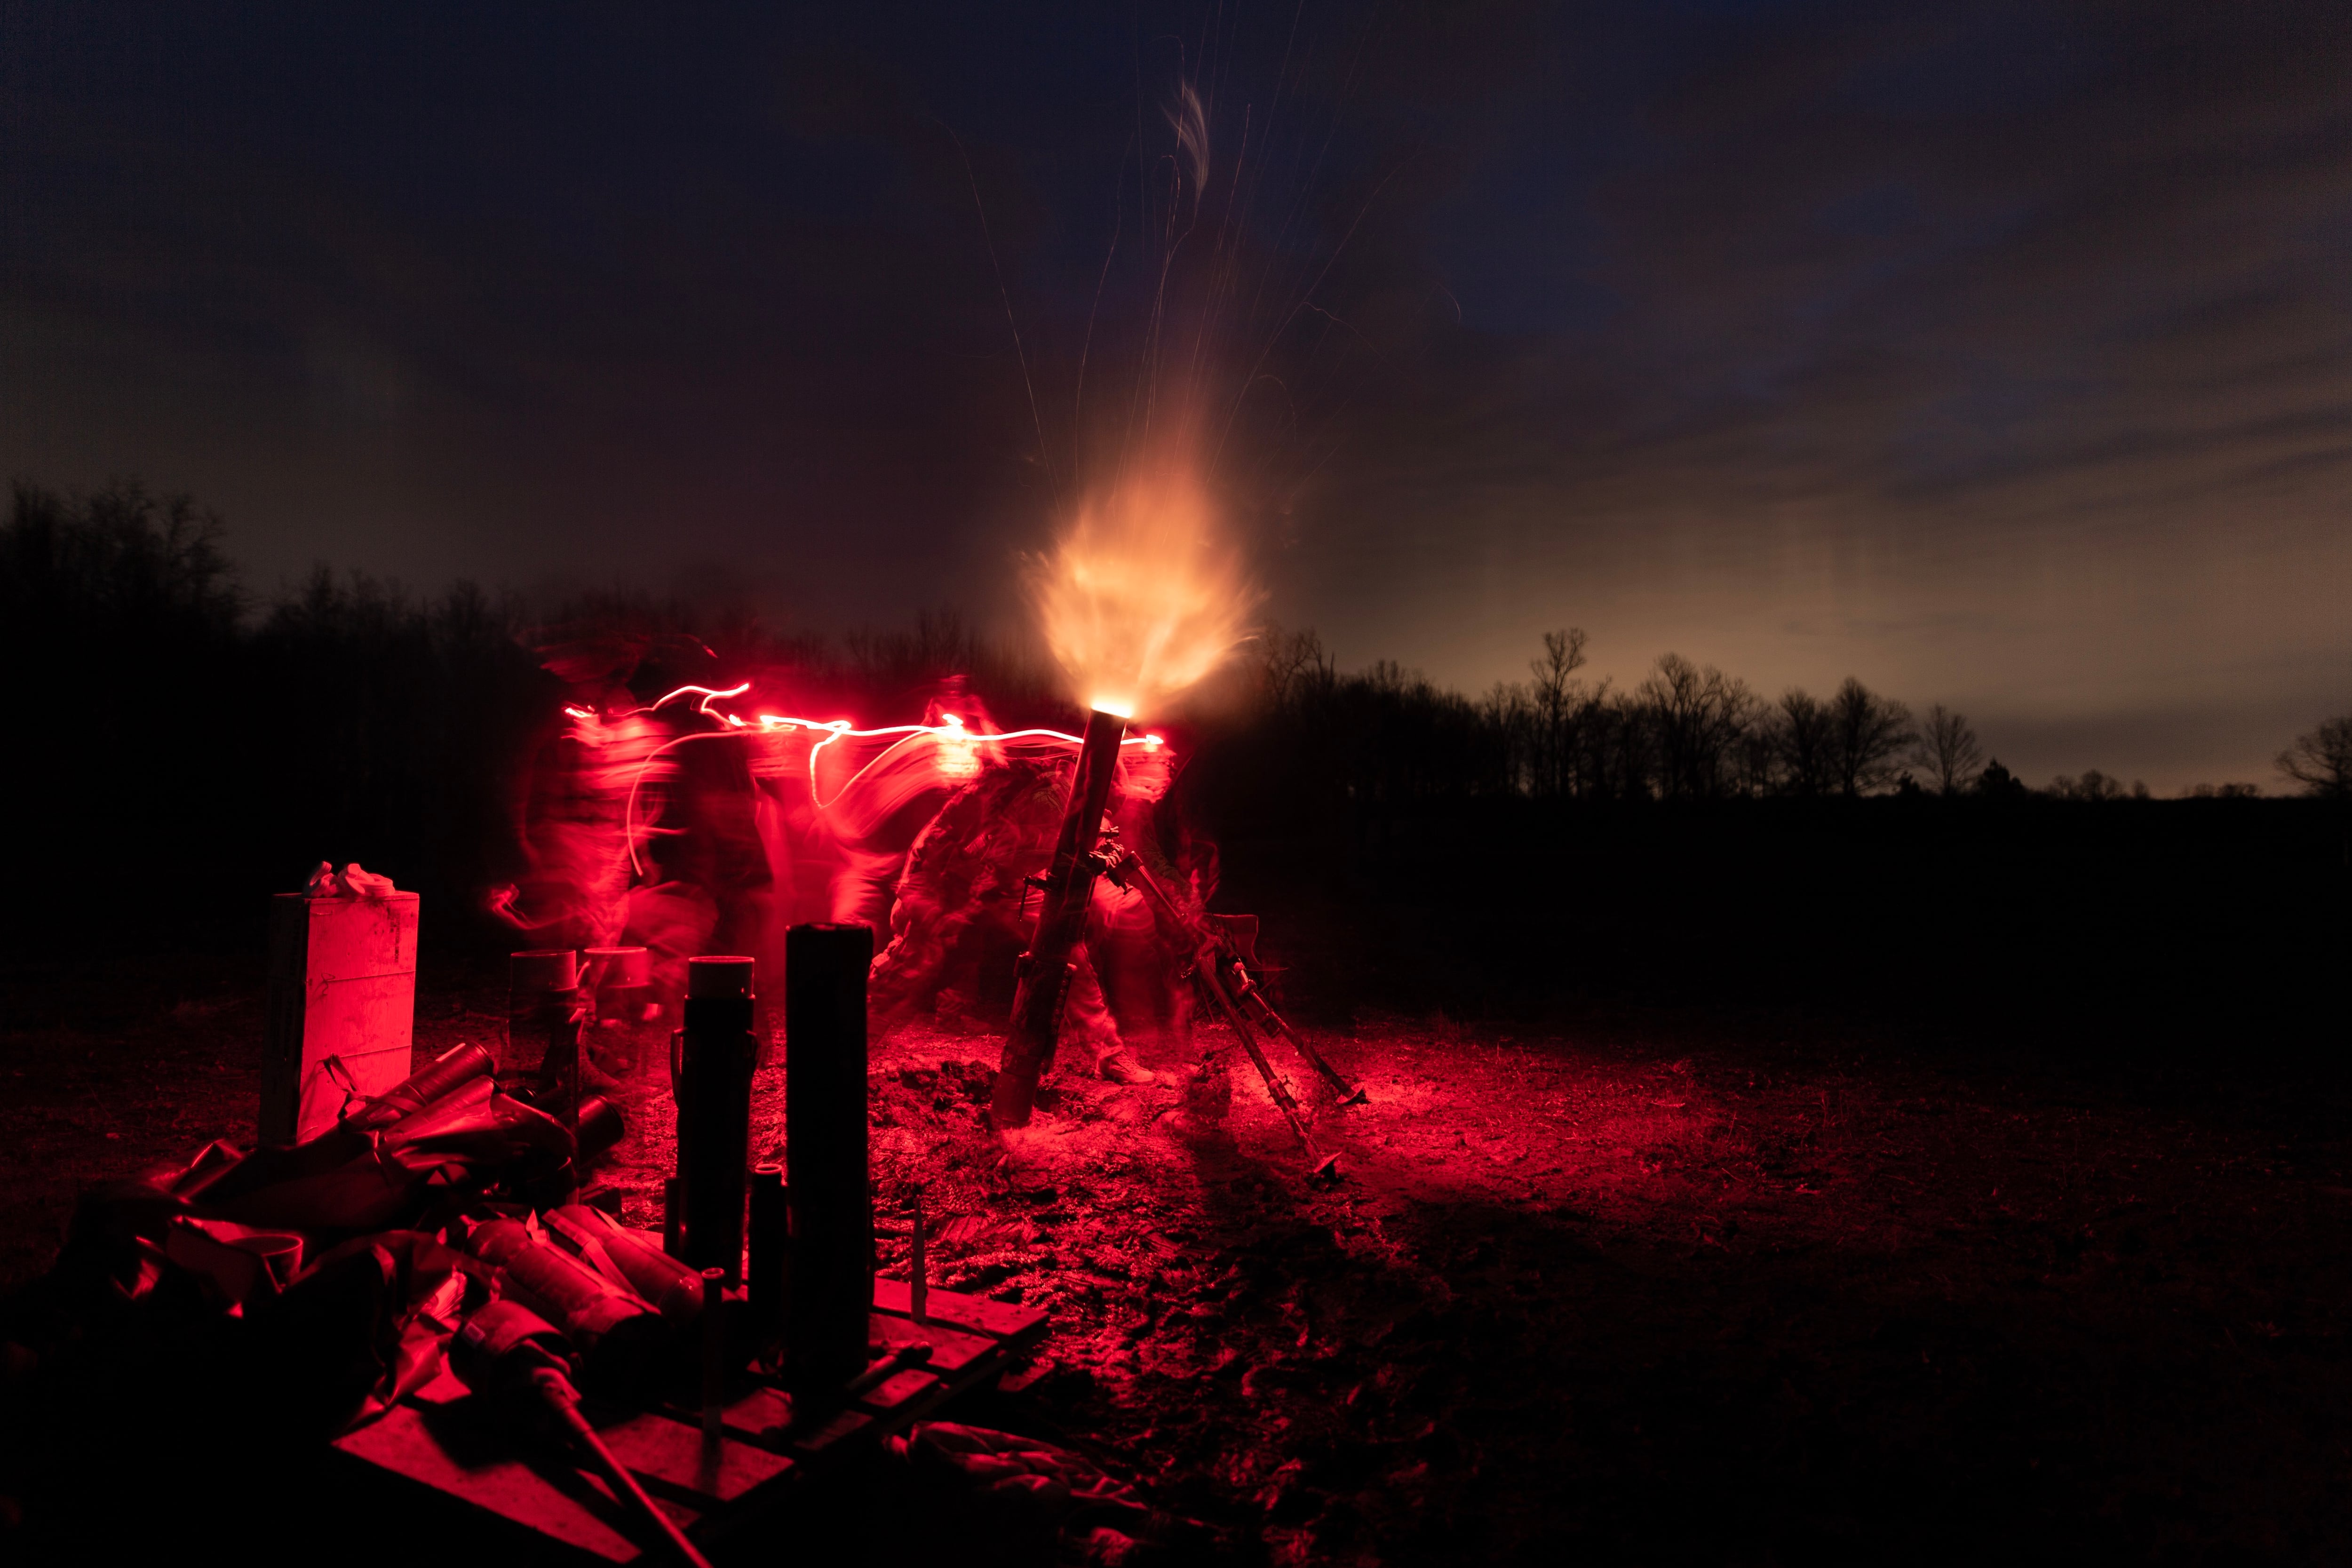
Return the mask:
<path id="1" fill-rule="evenodd" d="M 750 1171 L 750 959 L 687 959 L 677 1051 L 677 1175 L 687 1182 L 687 1262 L 743 1279 L 743 1185 Z"/>

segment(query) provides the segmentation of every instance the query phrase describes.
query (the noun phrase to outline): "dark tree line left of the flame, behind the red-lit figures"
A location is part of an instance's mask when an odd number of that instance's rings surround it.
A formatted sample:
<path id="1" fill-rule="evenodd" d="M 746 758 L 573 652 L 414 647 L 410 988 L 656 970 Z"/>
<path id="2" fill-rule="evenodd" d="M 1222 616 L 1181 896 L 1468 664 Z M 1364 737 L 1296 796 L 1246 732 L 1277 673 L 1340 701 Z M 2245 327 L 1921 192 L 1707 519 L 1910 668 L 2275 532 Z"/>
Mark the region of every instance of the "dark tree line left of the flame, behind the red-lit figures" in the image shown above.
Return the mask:
<path id="1" fill-rule="evenodd" d="M 811 717 L 920 717 L 950 677 L 1007 722 L 1068 717 L 1037 656 L 953 611 L 828 642 L 642 592 L 409 595 L 327 567 L 256 599 L 221 536 L 186 496 L 14 487 L 0 524 L 0 658 L 19 693 L 12 936 L 103 922 L 188 940 L 219 917 L 221 940 L 242 943 L 261 896 L 320 858 L 383 870 L 435 903 L 440 933 L 463 929 L 482 889 L 520 870 L 520 776 L 564 722 L 567 663 L 628 668 L 647 701 L 781 668 Z"/>

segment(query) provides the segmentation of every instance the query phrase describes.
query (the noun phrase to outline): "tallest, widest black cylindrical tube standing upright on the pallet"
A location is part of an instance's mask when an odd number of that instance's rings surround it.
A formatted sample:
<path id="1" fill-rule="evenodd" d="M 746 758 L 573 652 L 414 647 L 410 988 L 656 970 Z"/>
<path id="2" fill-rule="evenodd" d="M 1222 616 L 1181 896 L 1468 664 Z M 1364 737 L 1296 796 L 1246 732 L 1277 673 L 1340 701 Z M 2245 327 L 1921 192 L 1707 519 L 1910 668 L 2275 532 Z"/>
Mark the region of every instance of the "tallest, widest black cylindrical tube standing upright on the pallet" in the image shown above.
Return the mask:
<path id="1" fill-rule="evenodd" d="M 866 926 L 783 938 L 783 1140 L 793 1215 L 786 1385 L 840 1394 L 866 1371 L 875 1218 L 866 1185 Z"/>

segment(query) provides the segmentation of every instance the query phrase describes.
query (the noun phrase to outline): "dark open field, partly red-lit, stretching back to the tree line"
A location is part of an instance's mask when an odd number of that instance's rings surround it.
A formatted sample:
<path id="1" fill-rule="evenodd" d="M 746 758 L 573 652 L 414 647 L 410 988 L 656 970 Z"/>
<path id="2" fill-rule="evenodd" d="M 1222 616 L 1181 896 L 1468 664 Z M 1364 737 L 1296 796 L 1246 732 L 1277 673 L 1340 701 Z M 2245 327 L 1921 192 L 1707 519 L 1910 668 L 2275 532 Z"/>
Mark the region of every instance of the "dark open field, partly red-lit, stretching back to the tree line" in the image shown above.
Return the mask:
<path id="1" fill-rule="evenodd" d="M 2331 823 L 1947 839 L 1884 806 L 1675 853 L 1228 842 L 1225 903 L 1268 910 L 1371 1091 L 1319 1114 L 1329 1187 L 1247 1079 L 1225 1135 L 1169 1088 L 1068 1084 L 1004 1152 L 995 1034 L 877 1041 L 884 1229 L 920 1173 L 934 1279 L 1054 1312 L 974 1420 L 1101 1455 L 1242 1559 L 2340 1561 Z M 496 1041 L 501 994 L 494 957 L 428 945 L 419 1046 Z M 19 964 L 5 1006 L 16 1284 L 82 1180 L 249 1128 L 259 961 Z M 663 1095 L 637 1107 L 649 1218 Z"/>

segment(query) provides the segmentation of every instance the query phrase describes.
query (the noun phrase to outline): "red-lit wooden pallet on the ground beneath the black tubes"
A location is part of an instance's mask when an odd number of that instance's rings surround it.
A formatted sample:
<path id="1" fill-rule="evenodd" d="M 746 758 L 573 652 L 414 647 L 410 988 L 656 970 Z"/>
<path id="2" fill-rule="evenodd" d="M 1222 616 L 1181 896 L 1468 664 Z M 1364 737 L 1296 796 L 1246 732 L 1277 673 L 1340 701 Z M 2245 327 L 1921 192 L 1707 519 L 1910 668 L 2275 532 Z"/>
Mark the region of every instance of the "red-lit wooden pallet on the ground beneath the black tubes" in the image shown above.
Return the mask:
<path id="1" fill-rule="evenodd" d="M 821 1481 L 957 1394 L 1002 1375 L 1047 1331 L 1042 1312 L 955 1291 L 931 1291 L 927 1307 L 917 1324 L 908 1288 L 875 1281 L 868 1338 L 891 1347 L 927 1342 L 931 1361 L 891 1375 L 823 1422 L 795 1427 L 790 1396 L 750 1368 L 748 1389 L 724 1410 L 715 1455 L 703 1450 L 699 1410 L 590 1408 L 588 1415 L 644 1490 L 699 1547 L 710 1547 L 786 1509 L 811 1479 Z M 567 1465 L 553 1448 L 522 1450 L 510 1429 L 485 1420 L 466 1387 L 447 1373 L 381 1420 L 336 1439 L 334 1450 L 346 1467 L 365 1467 L 369 1481 L 390 1481 L 393 1502 L 437 1505 L 433 1512 L 440 1514 L 454 1505 L 475 1523 L 503 1521 L 494 1537 L 513 1537 L 520 1528 L 534 1559 L 628 1563 L 642 1552 L 644 1528 L 602 1479 Z M 426 1521 L 416 1516 L 416 1523 Z"/>

